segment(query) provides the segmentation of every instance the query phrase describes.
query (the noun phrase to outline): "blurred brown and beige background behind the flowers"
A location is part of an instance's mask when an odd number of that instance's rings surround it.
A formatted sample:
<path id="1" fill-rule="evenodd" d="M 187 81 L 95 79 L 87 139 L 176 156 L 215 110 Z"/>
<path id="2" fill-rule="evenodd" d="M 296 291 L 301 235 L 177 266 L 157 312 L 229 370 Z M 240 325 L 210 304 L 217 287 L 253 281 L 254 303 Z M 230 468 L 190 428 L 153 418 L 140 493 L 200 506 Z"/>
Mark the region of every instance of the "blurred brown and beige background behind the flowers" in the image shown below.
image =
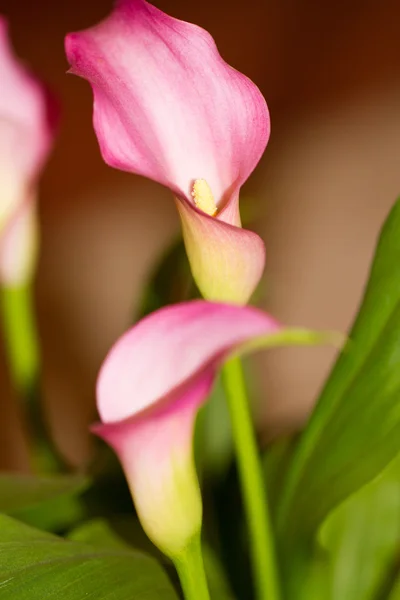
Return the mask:
<path id="1" fill-rule="evenodd" d="M 90 450 L 99 365 L 179 225 L 167 192 L 103 164 L 89 85 L 65 74 L 64 35 L 94 24 L 111 4 L 0 0 L 18 53 L 63 105 L 42 185 L 37 304 L 45 401 L 72 463 Z M 270 107 L 271 140 L 243 190 L 254 198 L 254 226 L 267 245 L 263 306 L 285 323 L 345 330 L 378 230 L 400 194 L 399 2 L 156 4 L 207 28 Z M 256 411 L 265 435 L 304 421 L 333 354 L 280 350 L 257 359 L 265 395 Z M 3 393 L 4 360 L 0 365 Z M 11 395 L 3 398 L 0 418 L 9 426 L 2 428 L 1 466 L 22 466 Z"/>

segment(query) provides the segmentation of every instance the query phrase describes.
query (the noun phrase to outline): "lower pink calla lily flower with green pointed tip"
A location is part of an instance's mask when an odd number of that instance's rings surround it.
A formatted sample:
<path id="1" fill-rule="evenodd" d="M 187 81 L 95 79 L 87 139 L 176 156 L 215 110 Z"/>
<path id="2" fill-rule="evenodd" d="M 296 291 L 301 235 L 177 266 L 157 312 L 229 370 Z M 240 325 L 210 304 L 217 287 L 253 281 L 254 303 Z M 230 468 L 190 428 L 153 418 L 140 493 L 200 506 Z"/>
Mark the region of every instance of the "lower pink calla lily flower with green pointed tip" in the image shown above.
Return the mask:
<path id="1" fill-rule="evenodd" d="M 248 306 L 196 300 L 162 308 L 111 349 L 97 382 L 101 423 L 92 431 L 116 452 L 139 518 L 174 558 L 201 527 L 192 437 L 199 407 L 232 354 L 320 343 Z"/>

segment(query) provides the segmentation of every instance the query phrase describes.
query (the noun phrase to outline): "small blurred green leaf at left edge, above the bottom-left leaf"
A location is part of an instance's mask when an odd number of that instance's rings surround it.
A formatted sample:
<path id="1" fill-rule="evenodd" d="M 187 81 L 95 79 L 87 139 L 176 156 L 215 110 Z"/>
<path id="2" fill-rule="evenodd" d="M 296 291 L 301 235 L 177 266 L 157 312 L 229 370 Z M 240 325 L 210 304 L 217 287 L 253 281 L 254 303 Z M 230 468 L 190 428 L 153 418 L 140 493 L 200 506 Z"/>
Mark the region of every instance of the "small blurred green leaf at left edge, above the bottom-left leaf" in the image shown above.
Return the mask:
<path id="1" fill-rule="evenodd" d="M 79 496 L 89 483 L 81 475 L 0 473 L 0 512 L 51 531 L 71 526 L 83 516 Z"/>

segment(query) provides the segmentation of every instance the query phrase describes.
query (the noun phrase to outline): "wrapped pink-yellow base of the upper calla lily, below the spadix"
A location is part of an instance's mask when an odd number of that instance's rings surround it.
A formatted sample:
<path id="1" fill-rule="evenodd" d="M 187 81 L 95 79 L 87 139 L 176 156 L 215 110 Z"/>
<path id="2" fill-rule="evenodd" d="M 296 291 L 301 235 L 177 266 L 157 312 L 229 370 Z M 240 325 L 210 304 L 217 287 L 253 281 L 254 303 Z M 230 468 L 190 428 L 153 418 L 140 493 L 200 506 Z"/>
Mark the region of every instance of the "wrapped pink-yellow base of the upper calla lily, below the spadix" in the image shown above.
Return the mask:
<path id="1" fill-rule="evenodd" d="M 265 265 L 265 246 L 252 231 L 209 217 L 176 201 L 196 284 L 207 300 L 246 304 Z"/>

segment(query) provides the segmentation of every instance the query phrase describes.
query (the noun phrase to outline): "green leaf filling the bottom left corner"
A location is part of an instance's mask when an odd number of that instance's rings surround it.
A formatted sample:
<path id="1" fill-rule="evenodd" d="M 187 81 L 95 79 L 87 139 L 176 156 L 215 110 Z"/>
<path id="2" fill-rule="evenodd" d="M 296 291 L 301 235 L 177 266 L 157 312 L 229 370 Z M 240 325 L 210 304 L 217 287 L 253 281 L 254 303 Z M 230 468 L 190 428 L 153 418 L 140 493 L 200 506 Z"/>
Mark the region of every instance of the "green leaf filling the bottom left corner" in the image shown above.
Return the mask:
<path id="1" fill-rule="evenodd" d="M 0 600 L 177 600 L 160 565 L 123 547 L 67 541 L 0 516 Z"/>

